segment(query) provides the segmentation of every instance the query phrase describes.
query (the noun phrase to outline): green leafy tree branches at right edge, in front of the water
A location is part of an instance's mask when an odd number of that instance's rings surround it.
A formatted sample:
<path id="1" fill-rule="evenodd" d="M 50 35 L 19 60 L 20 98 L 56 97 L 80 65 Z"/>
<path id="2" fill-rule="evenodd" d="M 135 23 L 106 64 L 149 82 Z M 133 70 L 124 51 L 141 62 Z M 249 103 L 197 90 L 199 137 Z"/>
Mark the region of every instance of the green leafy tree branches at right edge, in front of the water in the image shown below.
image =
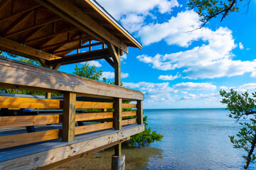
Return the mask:
<path id="1" fill-rule="evenodd" d="M 230 111 L 230 118 L 234 118 L 235 122 L 242 125 L 240 131 L 235 136 L 230 136 L 230 141 L 235 148 L 244 149 L 247 155 L 242 155 L 245 158 L 245 169 L 249 166 L 250 162 L 254 162 L 255 145 L 256 145 L 256 107 L 255 97 L 256 94 L 252 93 L 249 96 L 247 91 L 243 94 L 238 94 L 237 91 L 231 89 L 229 92 L 220 91 L 223 96 L 221 103 L 227 104 L 227 109 Z"/>

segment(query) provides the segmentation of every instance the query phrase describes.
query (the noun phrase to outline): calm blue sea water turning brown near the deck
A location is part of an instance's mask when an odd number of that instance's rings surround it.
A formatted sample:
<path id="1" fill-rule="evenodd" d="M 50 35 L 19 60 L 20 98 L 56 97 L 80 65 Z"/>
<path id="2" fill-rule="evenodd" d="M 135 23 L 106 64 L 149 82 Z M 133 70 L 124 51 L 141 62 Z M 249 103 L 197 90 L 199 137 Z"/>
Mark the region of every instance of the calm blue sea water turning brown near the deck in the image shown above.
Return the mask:
<path id="1" fill-rule="evenodd" d="M 246 153 L 234 149 L 228 137 L 240 127 L 227 114 L 224 109 L 144 110 L 151 129 L 164 138 L 150 147 L 124 148 L 126 169 L 243 169 Z M 107 149 L 59 169 L 110 169 L 112 154 Z"/>

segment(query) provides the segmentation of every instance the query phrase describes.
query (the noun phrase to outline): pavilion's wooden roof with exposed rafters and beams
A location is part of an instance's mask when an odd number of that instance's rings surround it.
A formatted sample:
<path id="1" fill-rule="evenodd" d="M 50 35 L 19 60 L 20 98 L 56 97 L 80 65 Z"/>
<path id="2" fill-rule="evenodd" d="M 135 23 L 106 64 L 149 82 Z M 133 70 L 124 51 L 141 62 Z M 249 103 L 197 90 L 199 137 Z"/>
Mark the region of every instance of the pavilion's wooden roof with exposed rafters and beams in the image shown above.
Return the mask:
<path id="1" fill-rule="evenodd" d="M 111 57 L 105 44 L 142 49 L 94 0 L 0 0 L 0 34 L 0 50 L 51 65 Z"/>

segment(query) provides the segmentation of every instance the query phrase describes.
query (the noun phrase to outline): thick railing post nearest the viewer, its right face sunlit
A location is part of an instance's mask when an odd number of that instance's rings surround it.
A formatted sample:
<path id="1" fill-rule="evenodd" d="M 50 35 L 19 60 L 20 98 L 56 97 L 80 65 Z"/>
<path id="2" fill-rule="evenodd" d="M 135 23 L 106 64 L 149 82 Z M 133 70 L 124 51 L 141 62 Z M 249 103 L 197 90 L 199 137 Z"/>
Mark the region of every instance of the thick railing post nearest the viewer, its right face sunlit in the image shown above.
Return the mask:
<path id="1" fill-rule="evenodd" d="M 76 94 L 66 92 L 63 98 L 63 130 L 62 141 L 75 140 L 75 101 Z"/>

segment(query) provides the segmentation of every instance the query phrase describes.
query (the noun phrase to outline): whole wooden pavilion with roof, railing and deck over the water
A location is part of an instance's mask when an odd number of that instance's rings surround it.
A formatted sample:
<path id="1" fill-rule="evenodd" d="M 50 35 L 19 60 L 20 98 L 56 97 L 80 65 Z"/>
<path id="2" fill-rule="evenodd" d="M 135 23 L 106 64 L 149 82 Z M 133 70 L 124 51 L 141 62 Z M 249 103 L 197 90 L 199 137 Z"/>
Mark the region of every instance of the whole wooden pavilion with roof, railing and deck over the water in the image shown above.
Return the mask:
<path id="1" fill-rule="evenodd" d="M 43 66 L 0 57 L 0 88 L 46 92 L 0 94 L 0 169 L 53 169 L 112 146 L 112 169 L 123 169 L 121 142 L 144 131 L 144 95 L 120 86 L 120 57 L 142 45 L 94 0 L 0 0 L 0 36 L 1 51 Z M 57 71 L 102 59 L 115 85 Z"/>

